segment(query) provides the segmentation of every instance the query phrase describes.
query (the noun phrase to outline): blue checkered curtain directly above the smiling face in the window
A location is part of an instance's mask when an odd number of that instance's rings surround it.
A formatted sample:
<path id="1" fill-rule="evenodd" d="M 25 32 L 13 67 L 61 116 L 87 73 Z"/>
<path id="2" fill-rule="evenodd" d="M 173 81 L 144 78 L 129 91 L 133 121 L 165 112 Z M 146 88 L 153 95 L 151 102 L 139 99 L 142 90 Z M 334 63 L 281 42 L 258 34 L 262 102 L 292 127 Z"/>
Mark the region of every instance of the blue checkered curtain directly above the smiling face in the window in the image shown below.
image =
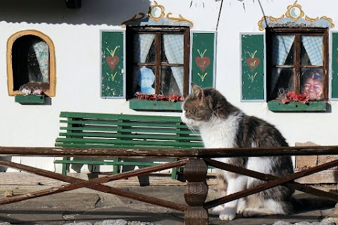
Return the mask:
<path id="1" fill-rule="evenodd" d="M 308 53 L 311 65 L 323 65 L 323 37 L 302 36 L 301 42 Z"/>

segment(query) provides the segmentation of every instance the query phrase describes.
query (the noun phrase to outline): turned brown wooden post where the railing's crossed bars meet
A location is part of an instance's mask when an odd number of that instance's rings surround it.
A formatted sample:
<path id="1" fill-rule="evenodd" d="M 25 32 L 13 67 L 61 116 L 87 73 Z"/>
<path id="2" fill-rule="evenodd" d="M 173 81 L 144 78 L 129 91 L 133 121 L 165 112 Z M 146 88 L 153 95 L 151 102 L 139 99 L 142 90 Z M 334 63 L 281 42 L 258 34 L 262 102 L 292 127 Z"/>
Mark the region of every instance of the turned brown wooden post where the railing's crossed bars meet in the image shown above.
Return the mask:
<path id="1" fill-rule="evenodd" d="M 189 205 L 184 212 L 184 225 L 207 225 L 208 210 L 203 205 L 208 195 L 206 172 L 208 166 L 202 159 L 190 159 L 184 167 L 184 176 L 188 183 L 184 198 Z"/>

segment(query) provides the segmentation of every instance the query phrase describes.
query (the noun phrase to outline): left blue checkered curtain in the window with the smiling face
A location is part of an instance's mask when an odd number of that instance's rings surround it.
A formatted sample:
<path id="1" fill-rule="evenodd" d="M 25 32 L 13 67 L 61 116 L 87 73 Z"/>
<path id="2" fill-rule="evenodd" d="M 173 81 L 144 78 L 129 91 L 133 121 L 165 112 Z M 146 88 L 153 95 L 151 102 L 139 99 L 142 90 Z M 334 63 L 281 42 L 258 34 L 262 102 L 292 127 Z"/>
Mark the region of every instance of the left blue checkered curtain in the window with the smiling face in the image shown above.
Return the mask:
<path id="1" fill-rule="evenodd" d="M 289 51 L 294 44 L 294 36 L 292 35 L 274 35 L 273 36 L 273 65 L 284 65 L 285 60 L 287 60 L 287 56 L 289 55 Z M 276 68 L 272 72 L 271 77 L 271 91 L 275 90 L 278 79 L 280 79 L 280 72 L 282 70 Z"/>

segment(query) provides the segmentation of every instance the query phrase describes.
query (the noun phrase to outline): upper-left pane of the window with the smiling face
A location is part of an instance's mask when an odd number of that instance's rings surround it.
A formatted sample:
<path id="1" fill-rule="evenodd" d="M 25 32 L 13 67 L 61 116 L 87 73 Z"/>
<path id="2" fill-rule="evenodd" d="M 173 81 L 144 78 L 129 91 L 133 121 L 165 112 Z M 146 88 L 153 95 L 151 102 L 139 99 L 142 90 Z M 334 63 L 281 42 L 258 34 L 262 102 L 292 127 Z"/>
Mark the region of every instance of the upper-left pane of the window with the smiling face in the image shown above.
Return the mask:
<path id="1" fill-rule="evenodd" d="M 273 65 L 294 65 L 294 36 L 273 35 L 272 41 Z"/>

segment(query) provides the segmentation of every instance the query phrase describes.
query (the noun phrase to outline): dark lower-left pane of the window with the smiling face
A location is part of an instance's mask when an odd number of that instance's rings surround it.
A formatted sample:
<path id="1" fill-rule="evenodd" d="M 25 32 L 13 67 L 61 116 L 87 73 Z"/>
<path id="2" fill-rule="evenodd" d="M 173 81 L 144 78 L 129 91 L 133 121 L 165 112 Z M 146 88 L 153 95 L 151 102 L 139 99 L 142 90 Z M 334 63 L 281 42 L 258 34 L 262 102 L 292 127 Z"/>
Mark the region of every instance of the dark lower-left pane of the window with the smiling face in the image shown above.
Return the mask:
<path id="1" fill-rule="evenodd" d="M 270 99 L 284 98 L 289 91 L 294 91 L 294 70 L 292 68 L 273 68 L 271 70 Z"/>

